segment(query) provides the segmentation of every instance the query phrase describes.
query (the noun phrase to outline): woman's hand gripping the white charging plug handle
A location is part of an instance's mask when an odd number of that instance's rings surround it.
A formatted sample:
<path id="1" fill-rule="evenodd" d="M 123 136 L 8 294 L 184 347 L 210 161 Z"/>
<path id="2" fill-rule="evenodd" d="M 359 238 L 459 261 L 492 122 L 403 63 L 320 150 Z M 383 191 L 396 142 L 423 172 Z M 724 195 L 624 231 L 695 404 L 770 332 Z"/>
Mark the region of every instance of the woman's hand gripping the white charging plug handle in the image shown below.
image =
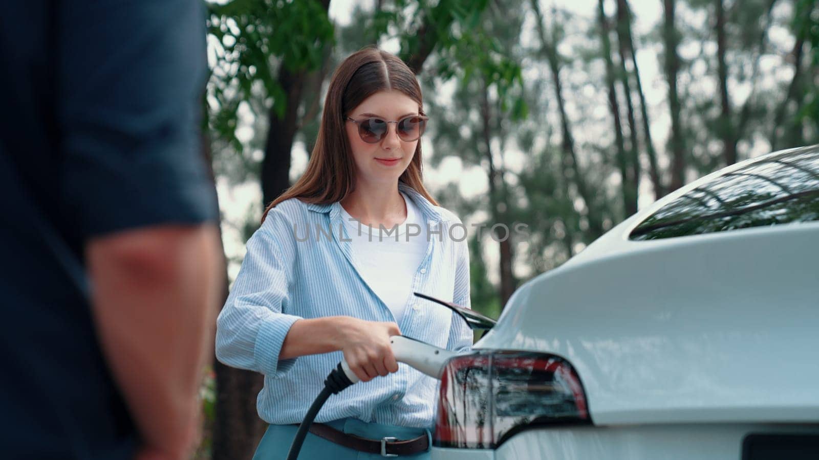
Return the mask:
<path id="1" fill-rule="evenodd" d="M 361 381 L 370 381 L 398 371 L 396 357 L 392 354 L 391 336 L 400 336 L 395 322 L 364 321 L 346 317 L 338 329 L 344 360 Z"/>

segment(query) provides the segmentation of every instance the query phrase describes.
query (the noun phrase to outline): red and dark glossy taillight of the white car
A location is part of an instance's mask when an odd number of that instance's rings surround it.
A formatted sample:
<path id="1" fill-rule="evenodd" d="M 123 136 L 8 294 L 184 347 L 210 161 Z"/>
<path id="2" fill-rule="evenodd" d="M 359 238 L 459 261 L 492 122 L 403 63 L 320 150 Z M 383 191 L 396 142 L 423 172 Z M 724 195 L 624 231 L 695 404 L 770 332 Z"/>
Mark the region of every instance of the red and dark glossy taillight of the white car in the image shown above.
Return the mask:
<path id="1" fill-rule="evenodd" d="M 580 378 L 565 359 L 479 352 L 450 359 L 441 377 L 438 447 L 495 449 L 526 427 L 591 423 Z"/>

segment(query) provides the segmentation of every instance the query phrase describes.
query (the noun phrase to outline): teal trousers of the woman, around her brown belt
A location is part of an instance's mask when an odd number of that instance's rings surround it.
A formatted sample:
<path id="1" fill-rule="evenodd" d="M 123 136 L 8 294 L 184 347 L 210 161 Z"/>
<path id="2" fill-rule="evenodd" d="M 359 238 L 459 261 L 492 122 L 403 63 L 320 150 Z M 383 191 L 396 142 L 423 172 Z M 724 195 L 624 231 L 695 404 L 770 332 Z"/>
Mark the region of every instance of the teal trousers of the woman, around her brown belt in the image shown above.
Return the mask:
<path id="1" fill-rule="evenodd" d="M 327 425 L 333 426 L 333 428 L 339 431 L 371 440 L 380 440 L 385 436 L 393 436 L 398 440 L 411 440 L 426 434 L 430 437 L 430 445 L 432 445 L 432 436 L 429 430 L 423 428 L 367 423 L 356 420 L 355 418 L 335 420 L 328 422 Z M 298 426 L 296 425 L 269 425 L 259 443 L 259 447 L 256 448 L 256 454 L 253 456 L 253 460 L 285 460 L 297 430 Z M 327 460 L 328 458 L 332 460 L 378 460 L 383 457 L 378 453 L 364 453 L 354 449 L 347 449 L 346 447 L 319 438 L 319 436 L 313 433 L 307 433 L 305 444 L 301 446 L 299 460 Z M 429 460 L 429 451 L 416 453 L 414 455 L 404 455 L 396 458 L 396 460 L 400 460 L 401 458 Z"/>

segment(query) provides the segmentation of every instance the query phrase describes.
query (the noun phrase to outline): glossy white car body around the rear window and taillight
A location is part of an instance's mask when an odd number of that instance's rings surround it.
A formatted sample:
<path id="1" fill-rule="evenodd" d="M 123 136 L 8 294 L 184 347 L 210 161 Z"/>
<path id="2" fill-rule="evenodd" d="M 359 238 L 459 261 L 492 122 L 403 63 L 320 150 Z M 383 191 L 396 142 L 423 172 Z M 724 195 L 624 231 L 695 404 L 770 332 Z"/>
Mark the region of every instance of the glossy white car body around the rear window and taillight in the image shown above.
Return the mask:
<path id="1" fill-rule="evenodd" d="M 757 160 L 682 187 L 520 286 L 475 345 L 567 359 L 594 426 L 532 427 L 495 450 L 432 458 L 740 458 L 751 432 L 819 433 L 819 222 L 629 239 Z"/>

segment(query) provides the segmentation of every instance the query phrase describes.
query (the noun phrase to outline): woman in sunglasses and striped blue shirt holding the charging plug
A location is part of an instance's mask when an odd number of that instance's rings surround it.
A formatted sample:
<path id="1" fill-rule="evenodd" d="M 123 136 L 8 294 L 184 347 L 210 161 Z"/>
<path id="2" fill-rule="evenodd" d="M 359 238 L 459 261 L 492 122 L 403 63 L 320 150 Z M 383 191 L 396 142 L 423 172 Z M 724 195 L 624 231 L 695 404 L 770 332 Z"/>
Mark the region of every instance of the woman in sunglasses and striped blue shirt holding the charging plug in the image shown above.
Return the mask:
<path id="1" fill-rule="evenodd" d="M 412 295 L 469 305 L 465 229 L 421 180 L 426 120 L 404 62 L 373 48 L 349 56 L 330 81 L 305 174 L 247 241 L 216 356 L 265 375 L 257 408 L 270 426 L 255 458 L 286 457 L 294 424 L 342 356 L 361 383 L 328 399 L 300 458 L 368 458 L 362 451 L 385 438 L 387 453 L 428 458 L 437 381 L 398 366 L 389 337 L 465 350 L 472 333 Z"/>

